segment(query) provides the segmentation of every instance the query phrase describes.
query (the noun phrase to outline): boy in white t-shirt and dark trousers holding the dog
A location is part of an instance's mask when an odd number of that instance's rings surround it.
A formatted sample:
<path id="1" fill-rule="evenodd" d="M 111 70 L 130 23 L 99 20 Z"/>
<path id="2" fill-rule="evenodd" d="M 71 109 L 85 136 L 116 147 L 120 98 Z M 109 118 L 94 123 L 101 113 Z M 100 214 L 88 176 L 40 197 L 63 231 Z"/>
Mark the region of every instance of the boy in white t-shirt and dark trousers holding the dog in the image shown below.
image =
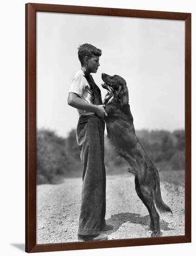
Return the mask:
<path id="1" fill-rule="evenodd" d="M 107 236 L 100 234 L 100 230 L 113 229 L 112 225 L 106 225 L 105 222 L 105 122 L 103 118 L 107 113 L 101 100 L 100 89 L 95 84 L 98 89 L 95 91 L 86 79 L 86 74 L 91 77 L 90 73 L 97 72 L 101 54 L 102 51 L 91 44 L 78 47 L 81 69 L 72 78 L 68 96 L 68 104 L 77 108 L 79 114 L 76 139 L 81 150 L 83 185 L 78 240 L 82 241 L 106 240 Z M 106 94 L 104 103 L 111 96 L 112 93 Z"/>

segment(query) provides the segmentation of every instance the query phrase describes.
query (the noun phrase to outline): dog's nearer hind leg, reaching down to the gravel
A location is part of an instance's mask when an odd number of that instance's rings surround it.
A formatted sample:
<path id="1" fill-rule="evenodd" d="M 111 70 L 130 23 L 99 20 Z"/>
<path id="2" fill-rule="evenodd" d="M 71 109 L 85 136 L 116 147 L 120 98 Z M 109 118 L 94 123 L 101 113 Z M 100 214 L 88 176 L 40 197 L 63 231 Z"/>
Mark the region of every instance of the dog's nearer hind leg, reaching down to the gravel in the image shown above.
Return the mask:
<path id="1" fill-rule="evenodd" d="M 152 219 L 154 222 L 154 231 L 152 232 L 151 237 L 160 236 L 161 232 L 160 232 L 160 226 L 159 226 L 159 215 L 154 205 L 153 193 L 149 187 L 144 185 L 140 186 L 140 189 L 144 197 L 144 200 L 148 205 L 148 207 L 147 206 L 146 207 L 147 209 L 150 209 L 149 213 L 151 212 Z"/>

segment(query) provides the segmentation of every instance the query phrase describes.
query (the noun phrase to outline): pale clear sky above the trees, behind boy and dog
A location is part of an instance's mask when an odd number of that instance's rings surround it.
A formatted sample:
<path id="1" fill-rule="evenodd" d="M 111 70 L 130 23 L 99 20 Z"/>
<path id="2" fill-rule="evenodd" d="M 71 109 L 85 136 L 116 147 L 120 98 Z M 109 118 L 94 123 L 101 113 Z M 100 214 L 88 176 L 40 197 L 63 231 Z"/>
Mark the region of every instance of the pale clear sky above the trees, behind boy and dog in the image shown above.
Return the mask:
<path id="1" fill-rule="evenodd" d="M 81 68 L 78 46 L 102 50 L 92 74 L 122 76 L 138 129 L 184 129 L 184 21 L 37 12 L 37 128 L 66 137 L 78 123 L 67 104 L 72 76 Z"/>

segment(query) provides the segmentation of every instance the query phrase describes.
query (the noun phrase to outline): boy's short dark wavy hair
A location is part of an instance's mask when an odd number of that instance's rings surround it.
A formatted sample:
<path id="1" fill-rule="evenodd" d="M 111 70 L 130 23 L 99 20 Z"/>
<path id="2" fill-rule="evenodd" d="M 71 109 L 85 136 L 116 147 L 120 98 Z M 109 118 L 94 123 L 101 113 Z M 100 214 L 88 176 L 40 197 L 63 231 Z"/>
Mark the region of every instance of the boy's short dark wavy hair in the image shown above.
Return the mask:
<path id="1" fill-rule="evenodd" d="M 78 47 L 78 58 L 81 64 L 83 64 L 85 56 L 91 58 L 93 55 L 101 56 L 102 51 L 91 44 L 82 44 Z"/>

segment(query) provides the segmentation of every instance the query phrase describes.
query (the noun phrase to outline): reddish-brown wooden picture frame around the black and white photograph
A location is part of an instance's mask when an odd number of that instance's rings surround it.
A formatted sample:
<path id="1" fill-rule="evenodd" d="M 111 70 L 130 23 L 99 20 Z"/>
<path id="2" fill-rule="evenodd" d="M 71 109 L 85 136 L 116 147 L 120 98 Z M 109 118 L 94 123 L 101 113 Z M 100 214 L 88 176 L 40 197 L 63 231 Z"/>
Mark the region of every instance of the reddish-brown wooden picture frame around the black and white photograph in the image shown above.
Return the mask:
<path id="1" fill-rule="evenodd" d="M 36 12 L 78 13 L 185 21 L 185 236 L 36 244 Z M 26 4 L 26 252 L 191 242 L 191 13 Z"/>

